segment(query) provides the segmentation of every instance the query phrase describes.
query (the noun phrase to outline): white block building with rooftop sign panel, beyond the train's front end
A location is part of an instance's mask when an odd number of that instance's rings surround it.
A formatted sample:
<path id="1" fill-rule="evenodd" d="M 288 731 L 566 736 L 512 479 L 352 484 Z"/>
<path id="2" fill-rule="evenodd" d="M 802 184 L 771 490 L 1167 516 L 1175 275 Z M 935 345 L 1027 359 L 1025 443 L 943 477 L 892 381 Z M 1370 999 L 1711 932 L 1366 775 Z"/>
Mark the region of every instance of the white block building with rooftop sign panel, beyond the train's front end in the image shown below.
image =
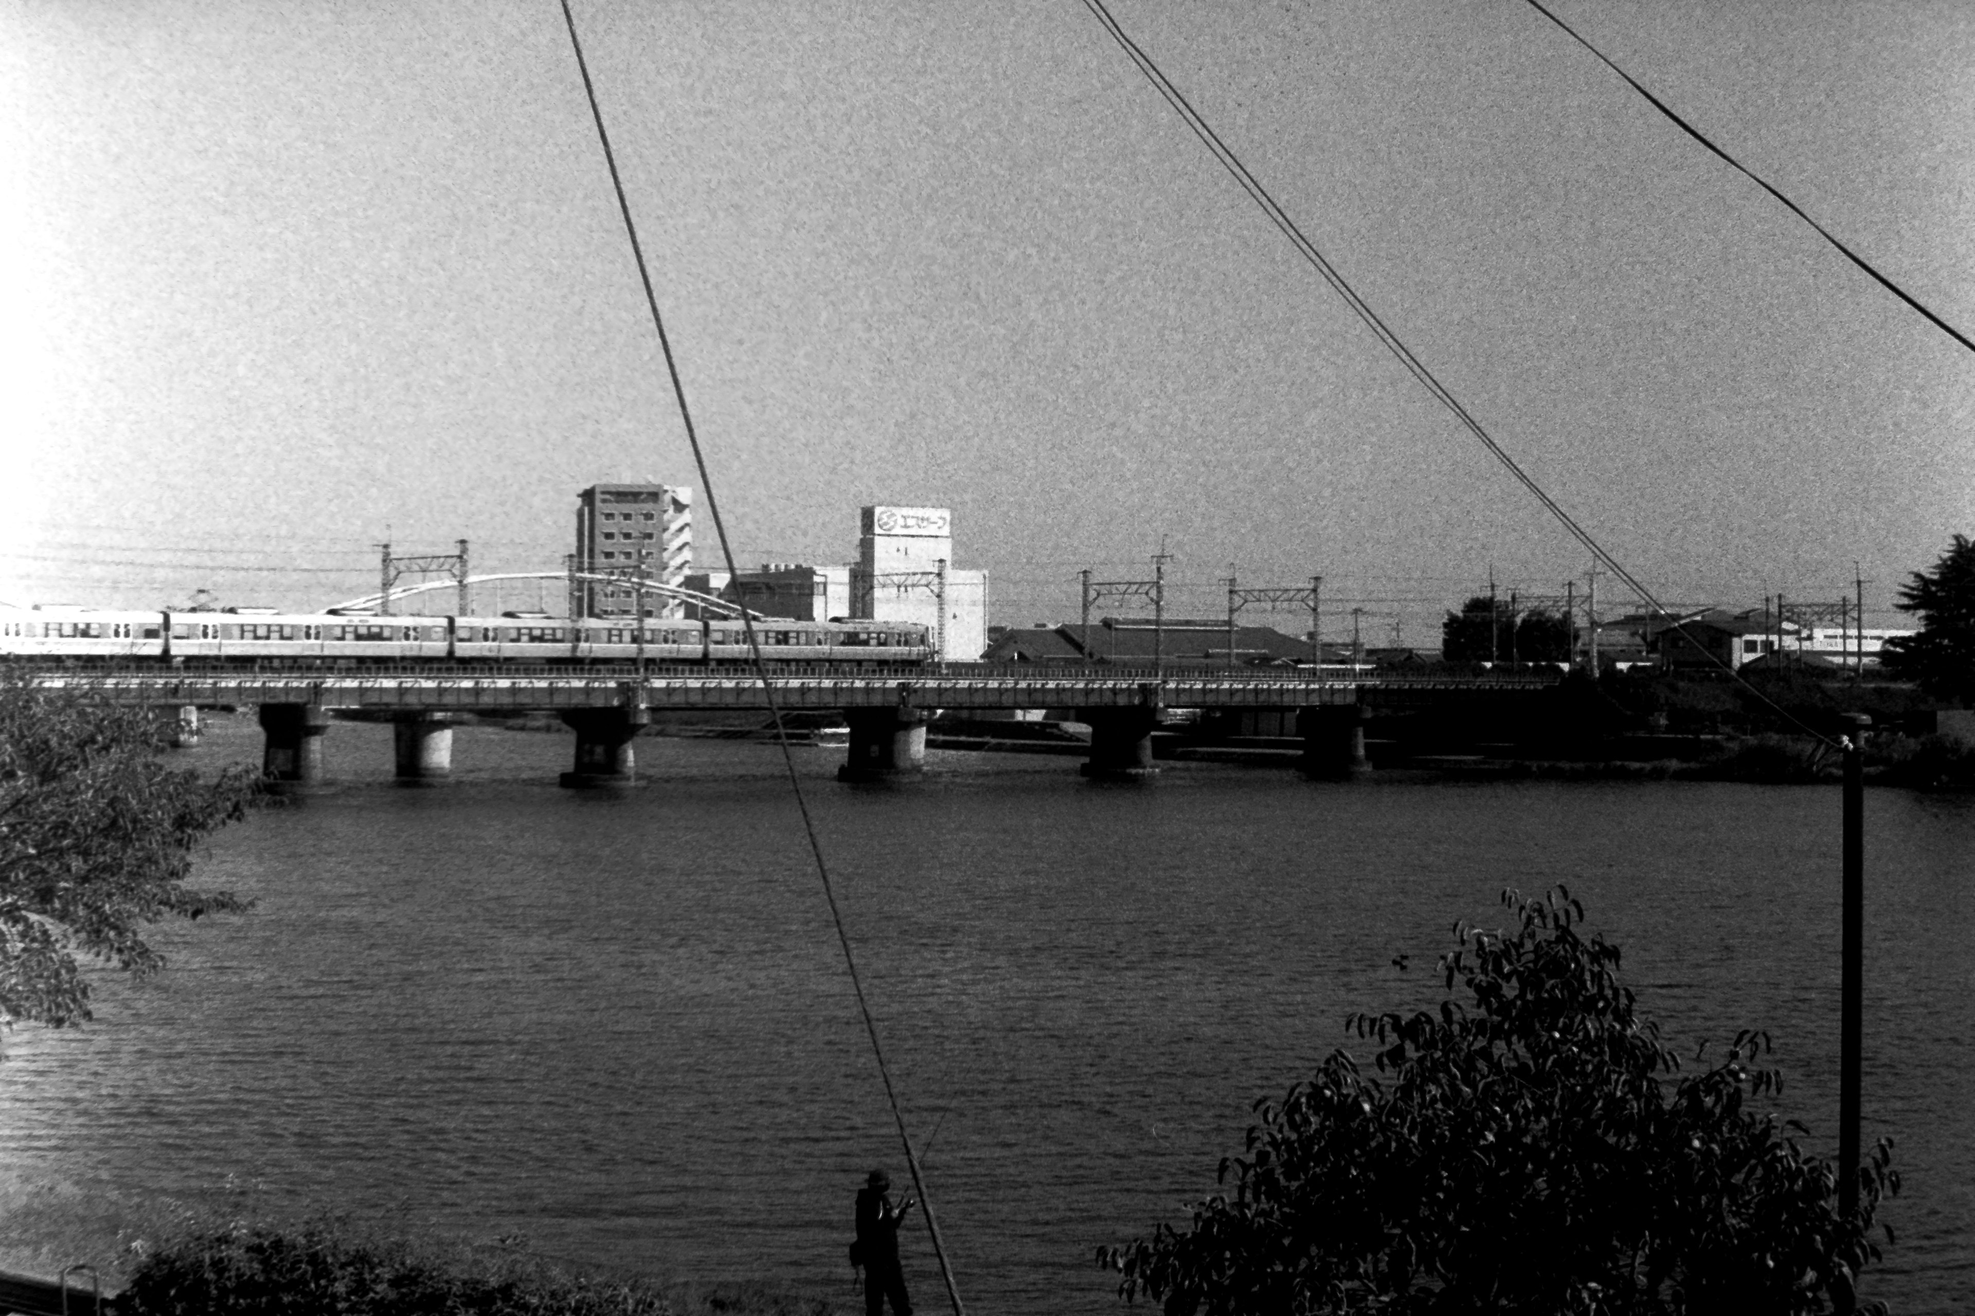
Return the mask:
<path id="1" fill-rule="evenodd" d="M 849 588 L 849 616 L 918 621 L 942 659 L 976 659 L 988 647 L 988 572 L 954 566 L 946 507 L 865 507 Z"/>

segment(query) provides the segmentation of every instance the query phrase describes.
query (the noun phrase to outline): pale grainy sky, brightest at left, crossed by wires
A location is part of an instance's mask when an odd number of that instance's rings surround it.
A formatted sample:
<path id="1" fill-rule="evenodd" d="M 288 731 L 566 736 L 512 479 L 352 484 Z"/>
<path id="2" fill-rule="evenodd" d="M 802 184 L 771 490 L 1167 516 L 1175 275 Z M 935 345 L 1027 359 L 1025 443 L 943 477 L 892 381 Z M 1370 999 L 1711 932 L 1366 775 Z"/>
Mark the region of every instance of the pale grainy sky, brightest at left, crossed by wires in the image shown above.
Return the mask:
<path id="1" fill-rule="evenodd" d="M 1558 8 L 1975 329 L 1975 8 Z M 1884 606 L 1975 531 L 1975 355 L 1525 4 L 1114 12 L 1669 600 Z M 577 16 L 745 564 L 889 501 L 995 621 L 1161 537 L 1175 612 L 1321 572 L 1412 643 L 1582 582 L 1078 0 Z M 328 604 L 699 483 L 553 0 L 6 2 L 0 160 L 0 598 Z"/>

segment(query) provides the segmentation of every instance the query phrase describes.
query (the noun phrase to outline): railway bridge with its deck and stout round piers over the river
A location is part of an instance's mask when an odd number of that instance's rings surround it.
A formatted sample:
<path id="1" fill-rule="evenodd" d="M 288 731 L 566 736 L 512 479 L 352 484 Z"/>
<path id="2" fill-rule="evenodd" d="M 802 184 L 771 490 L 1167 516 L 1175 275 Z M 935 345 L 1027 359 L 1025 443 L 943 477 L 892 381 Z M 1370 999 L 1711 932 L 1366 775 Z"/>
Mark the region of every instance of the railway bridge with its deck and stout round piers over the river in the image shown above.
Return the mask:
<path id="1" fill-rule="evenodd" d="M 849 724 L 845 779 L 914 771 L 924 762 L 926 720 L 938 710 L 1068 708 L 1090 726 L 1084 775 L 1132 777 L 1153 771 L 1151 734 L 1173 710 L 1254 710 L 1294 716 L 1304 740 L 1302 768 L 1315 775 L 1369 769 L 1365 716 L 1373 708 L 1418 708 L 1448 700 L 1527 700 L 1556 687 L 1554 677 L 1386 677 L 1305 671 L 1136 671 L 1120 667 L 1035 669 L 942 663 L 910 673 L 788 667 L 766 677 L 703 667 L 581 669 L 466 667 L 393 669 L 45 669 L 36 681 L 95 698 L 199 706 L 257 704 L 267 734 L 265 769 L 278 783 L 322 781 L 322 736 L 332 708 L 365 708 L 397 724 L 397 775 L 444 777 L 452 766 L 452 724 L 476 712 L 557 712 L 577 732 L 575 766 L 563 785 L 630 785 L 632 740 L 654 708 L 784 712 L 835 710 Z"/>

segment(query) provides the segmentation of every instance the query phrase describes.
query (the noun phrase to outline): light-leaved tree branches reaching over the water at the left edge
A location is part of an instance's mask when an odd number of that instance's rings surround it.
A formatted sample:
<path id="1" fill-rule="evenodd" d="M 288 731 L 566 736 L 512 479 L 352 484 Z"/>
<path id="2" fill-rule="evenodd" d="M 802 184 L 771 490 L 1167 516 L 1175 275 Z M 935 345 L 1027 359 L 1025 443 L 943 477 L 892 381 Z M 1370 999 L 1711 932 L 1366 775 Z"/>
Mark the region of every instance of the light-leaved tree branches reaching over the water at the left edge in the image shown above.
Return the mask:
<path id="1" fill-rule="evenodd" d="M 0 1022 L 89 1018 L 79 957 L 148 973 L 166 915 L 239 910 L 186 886 L 192 852 L 255 797 L 245 771 L 201 781 L 160 760 L 146 708 L 0 677 Z"/>

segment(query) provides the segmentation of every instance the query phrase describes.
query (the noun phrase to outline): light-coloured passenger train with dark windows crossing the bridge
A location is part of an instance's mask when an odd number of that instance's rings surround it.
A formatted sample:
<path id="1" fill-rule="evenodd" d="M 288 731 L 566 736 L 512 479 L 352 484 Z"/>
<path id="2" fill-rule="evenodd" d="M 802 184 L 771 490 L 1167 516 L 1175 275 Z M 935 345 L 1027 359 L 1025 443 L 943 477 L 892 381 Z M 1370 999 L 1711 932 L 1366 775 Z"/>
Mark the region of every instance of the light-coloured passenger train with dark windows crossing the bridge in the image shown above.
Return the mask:
<path id="1" fill-rule="evenodd" d="M 932 661 L 924 625 L 756 618 L 770 663 L 914 667 Z M 97 612 L 0 608 L 0 659 L 160 661 L 174 667 L 387 667 L 452 663 L 630 663 L 735 667 L 752 663 L 739 620 L 498 618 L 225 612 Z"/>

